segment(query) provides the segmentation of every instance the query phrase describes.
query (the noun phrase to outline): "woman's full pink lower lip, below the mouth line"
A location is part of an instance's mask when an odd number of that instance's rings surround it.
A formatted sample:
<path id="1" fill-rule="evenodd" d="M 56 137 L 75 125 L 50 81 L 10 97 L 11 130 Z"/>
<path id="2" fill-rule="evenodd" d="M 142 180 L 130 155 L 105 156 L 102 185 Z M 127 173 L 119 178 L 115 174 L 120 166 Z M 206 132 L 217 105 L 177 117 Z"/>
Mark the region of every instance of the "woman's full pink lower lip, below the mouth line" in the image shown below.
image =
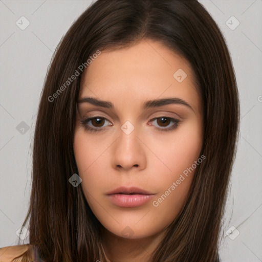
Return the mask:
<path id="1" fill-rule="evenodd" d="M 110 194 L 107 197 L 119 207 L 139 207 L 154 197 L 154 194 Z"/>

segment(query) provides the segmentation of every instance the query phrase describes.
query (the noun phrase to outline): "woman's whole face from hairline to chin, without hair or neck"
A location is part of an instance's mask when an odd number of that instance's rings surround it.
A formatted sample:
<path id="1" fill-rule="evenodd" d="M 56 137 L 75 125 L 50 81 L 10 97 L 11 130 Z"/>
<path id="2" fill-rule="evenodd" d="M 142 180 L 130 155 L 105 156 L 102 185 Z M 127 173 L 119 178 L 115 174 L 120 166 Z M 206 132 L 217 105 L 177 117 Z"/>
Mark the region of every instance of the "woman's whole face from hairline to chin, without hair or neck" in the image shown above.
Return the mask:
<path id="1" fill-rule="evenodd" d="M 117 236 L 162 232 L 183 208 L 200 163 L 202 101 L 189 63 L 150 40 L 101 52 L 78 101 L 74 152 L 93 213 Z"/>

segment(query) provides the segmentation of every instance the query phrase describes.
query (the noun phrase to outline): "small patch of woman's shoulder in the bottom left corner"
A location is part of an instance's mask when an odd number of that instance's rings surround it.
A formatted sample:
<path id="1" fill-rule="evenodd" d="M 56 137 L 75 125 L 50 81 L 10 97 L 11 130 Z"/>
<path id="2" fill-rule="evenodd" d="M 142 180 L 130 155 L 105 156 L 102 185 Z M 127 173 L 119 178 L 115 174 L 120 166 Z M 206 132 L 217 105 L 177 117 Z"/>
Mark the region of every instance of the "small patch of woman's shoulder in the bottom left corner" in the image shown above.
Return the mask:
<path id="1" fill-rule="evenodd" d="M 7 246 L 0 248 L 0 262 L 11 262 L 15 257 L 23 254 L 27 251 L 29 244 L 26 245 L 17 245 L 17 246 Z M 16 260 L 21 261 L 20 259 Z"/>

